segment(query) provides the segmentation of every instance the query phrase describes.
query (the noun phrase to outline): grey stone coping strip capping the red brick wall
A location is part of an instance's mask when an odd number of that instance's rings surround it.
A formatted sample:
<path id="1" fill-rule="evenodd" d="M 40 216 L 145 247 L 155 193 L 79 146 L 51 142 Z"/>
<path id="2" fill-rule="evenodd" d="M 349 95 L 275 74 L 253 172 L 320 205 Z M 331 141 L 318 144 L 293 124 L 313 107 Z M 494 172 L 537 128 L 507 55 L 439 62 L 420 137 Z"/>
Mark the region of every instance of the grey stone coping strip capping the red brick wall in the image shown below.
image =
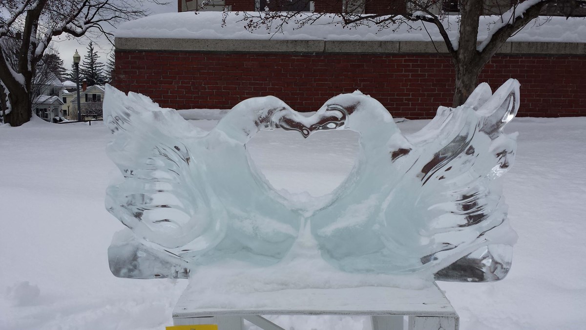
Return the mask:
<path id="1" fill-rule="evenodd" d="M 442 41 L 115 38 L 117 50 L 244 53 L 447 53 Z M 506 42 L 500 54 L 586 55 L 586 43 Z"/>

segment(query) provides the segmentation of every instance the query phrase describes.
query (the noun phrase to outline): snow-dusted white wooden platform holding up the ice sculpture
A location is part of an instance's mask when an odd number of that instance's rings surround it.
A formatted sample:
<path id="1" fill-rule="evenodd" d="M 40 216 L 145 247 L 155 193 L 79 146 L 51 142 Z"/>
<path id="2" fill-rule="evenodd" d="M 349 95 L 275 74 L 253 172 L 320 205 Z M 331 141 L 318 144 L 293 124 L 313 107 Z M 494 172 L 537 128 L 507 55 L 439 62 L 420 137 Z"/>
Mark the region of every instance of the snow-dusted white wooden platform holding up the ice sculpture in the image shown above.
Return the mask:
<path id="1" fill-rule="evenodd" d="M 219 330 L 241 330 L 246 319 L 265 330 L 282 330 L 261 315 L 366 315 L 373 330 L 403 330 L 403 316 L 408 316 L 410 330 L 459 328 L 458 314 L 436 285 L 421 290 L 291 289 L 206 297 L 209 294 L 188 287 L 173 310 L 174 325 L 217 324 Z"/>

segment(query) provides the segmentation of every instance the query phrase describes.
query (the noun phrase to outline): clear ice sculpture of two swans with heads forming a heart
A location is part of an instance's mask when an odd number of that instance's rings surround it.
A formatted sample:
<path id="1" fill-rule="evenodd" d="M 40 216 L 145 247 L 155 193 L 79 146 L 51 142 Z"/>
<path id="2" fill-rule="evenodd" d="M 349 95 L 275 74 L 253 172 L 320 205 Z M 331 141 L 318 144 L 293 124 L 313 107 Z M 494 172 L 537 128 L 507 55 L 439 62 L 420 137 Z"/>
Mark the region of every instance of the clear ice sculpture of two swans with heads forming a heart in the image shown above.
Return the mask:
<path id="1" fill-rule="evenodd" d="M 224 260 L 284 262 L 300 233 L 345 272 L 494 281 L 510 268 L 500 176 L 515 136 L 503 127 L 519 108 L 519 82 L 494 95 L 483 83 L 456 109 L 440 107 L 404 136 L 377 100 L 355 92 L 304 117 L 276 97 L 235 106 L 209 133 L 148 97 L 107 86 L 108 156 L 124 180 L 106 207 L 128 228 L 108 249 L 114 275 L 187 278 Z M 350 129 L 360 134 L 349 177 L 321 207 L 293 206 L 258 174 L 245 148 L 260 130 Z"/>

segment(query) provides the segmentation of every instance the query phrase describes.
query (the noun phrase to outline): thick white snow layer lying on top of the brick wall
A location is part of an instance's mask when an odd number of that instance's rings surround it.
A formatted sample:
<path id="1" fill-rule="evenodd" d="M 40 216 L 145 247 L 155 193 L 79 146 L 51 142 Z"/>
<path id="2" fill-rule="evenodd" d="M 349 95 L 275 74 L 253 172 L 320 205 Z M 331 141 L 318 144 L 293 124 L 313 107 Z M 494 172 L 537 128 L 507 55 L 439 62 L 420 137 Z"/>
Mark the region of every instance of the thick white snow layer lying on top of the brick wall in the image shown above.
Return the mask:
<path id="1" fill-rule="evenodd" d="M 301 14 L 306 15 L 306 14 Z M 181 12 L 152 15 L 135 21 L 125 22 L 116 32 L 117 38 L 172 38 L 172 39 L 274 39 L 274 40 L 331 40 L 331 41 L 429 41 L 423 25 L 434 41 L 442 41 L 440 33 L 431 23 L 413 22 L 416 29 L 407 25 L 393 26 L 379 31 L 376 26 L 348 27 L 331 24 L 339 21 L 333 16 L 322 17 L 313 25 L 299 27 L 292 21 L 284 25 L 283 33 L 276 28 L 260 28 L 247 31 L 242 15 L 230 12 L 226 25 L 222 26 L 222 12 Z M 479 41 L 489 34 L 499 16 L 483 16 L 479 28 Z M 272 24 L 276 26 L 277 24 Z M 452 41 L 457 40 L 458 22 L 456 16 L 444 20 Z M 395 32 L 393 30 L 396 29 Z M 586 19 L 552 17 L 539 18 L 527 24 L 510 41 L 537 42 L 586 42 Z"/>

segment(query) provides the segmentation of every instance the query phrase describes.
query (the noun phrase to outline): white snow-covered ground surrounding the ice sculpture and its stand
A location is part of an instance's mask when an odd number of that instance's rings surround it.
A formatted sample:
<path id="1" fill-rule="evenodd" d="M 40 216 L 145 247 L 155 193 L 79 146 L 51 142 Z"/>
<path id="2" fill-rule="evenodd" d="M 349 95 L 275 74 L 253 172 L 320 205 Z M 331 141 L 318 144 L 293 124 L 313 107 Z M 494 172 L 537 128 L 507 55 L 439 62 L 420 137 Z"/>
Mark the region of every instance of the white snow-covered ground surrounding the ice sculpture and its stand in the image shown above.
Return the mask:
<path id="1" fill-rule="evenodd" d="M 193 114 L 192 114 L 193 116 Z M 213 120 L 194 120 L 210 129 Z M 399 123 L 414 132 L 427 123 Z M 579 329 L 586 324 L 586 117 L 517 118 L 516 163 L 505 177 L 519 234 L 513 268 L 500 282 L 440 282 L 461 329 Z M 104 210 L 116 169 L 100 123 L 0 127 L 0 329 L 162 330 L 187 281 L 125 280 L 108 270 L 122 228 Z M 255 163 L 277 187 L 331 191 L 353 165 L 357 136 L 261 132 Z M 327 164 L 327 166 L 325 166 Z M 281 316 L 283 328 L 362 330 L 364 318 Z"/>

